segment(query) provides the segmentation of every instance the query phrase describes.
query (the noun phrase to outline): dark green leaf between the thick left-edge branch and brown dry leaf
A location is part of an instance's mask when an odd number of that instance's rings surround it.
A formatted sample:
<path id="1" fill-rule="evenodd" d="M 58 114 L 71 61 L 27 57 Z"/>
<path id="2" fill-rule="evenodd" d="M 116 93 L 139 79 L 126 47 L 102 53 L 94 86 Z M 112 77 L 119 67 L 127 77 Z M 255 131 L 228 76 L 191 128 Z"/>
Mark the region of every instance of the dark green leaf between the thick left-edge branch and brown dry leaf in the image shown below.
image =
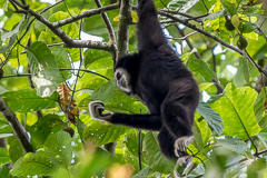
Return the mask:
<path id="1" fill-rule="evenodd" d="M 29 128 L 31 140 L 37 148 L 42 147 L 52 132 L 60 131 L 66 126 L 58 115 L 46 115 Z"/>

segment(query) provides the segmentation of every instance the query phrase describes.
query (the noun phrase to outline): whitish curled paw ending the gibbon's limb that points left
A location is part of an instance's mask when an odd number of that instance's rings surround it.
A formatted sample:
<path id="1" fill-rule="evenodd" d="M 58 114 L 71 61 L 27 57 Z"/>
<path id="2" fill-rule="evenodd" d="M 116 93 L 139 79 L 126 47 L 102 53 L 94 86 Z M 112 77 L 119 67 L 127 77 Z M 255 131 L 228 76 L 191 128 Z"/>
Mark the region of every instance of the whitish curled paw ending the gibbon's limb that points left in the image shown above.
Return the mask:
<path id="1" fill-rule="evenodd" d="M 92 101 L 89 103 L 89 112 L 91 118 L 99 121 L 110 121 L 112 112 L 102 113 L 105 111 L 103 103 L 101 101 Z"/>

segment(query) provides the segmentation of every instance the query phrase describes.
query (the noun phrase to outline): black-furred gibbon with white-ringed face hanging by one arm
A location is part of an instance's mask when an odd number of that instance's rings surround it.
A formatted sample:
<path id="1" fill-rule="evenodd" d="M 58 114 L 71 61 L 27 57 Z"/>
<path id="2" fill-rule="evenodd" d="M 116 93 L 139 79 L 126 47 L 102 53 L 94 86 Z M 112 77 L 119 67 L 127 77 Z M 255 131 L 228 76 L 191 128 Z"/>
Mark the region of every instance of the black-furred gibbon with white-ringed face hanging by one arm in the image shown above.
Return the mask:
<path id="1" fill-rule="evenodd" d="M 159 131 L 161 152 L 168 158 L 185 156 L 192 140 L 191 127 L 199 90 L 162 32 L 152 0 L 138 0 L 138 52 L 120 57 L 115 65 L 117 86 L 138 96 L 148 115 L 102 113 L 101 101 L 89 103 L 96 120 Z"/>

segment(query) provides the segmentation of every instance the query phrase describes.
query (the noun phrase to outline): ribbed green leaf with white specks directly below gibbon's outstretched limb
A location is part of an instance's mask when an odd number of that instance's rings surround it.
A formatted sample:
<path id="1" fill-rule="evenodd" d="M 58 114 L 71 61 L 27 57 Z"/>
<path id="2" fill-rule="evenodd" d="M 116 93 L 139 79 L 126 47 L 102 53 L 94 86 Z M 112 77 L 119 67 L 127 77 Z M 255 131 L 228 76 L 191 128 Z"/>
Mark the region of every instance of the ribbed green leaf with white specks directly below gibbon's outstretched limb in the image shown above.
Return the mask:
<path id="1" fill-rule="evenodd" d="M 123 126 L 95 122 L 85 129 L 82 138 L 85 140 L 89 139 L 100 146 L 119 140 L 127 130 L 129 129 Z"/>

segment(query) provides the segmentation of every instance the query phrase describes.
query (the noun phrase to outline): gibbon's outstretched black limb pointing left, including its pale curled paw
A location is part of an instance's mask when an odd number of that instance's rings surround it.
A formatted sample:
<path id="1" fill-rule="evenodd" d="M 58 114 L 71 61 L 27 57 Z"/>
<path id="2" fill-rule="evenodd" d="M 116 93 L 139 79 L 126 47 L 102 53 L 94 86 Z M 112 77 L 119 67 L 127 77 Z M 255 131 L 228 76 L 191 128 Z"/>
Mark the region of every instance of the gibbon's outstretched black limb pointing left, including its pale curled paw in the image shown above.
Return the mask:
<path id="1" fill-rule="evenodd" d="M 159 131 L 162 126 L 159 115 L 102 113 L 103 110 L 103 103 L 101 101 L 92 101 L 89 103 L 89 111 L 91 118 L 95 120 L 154 131 Z"/>

